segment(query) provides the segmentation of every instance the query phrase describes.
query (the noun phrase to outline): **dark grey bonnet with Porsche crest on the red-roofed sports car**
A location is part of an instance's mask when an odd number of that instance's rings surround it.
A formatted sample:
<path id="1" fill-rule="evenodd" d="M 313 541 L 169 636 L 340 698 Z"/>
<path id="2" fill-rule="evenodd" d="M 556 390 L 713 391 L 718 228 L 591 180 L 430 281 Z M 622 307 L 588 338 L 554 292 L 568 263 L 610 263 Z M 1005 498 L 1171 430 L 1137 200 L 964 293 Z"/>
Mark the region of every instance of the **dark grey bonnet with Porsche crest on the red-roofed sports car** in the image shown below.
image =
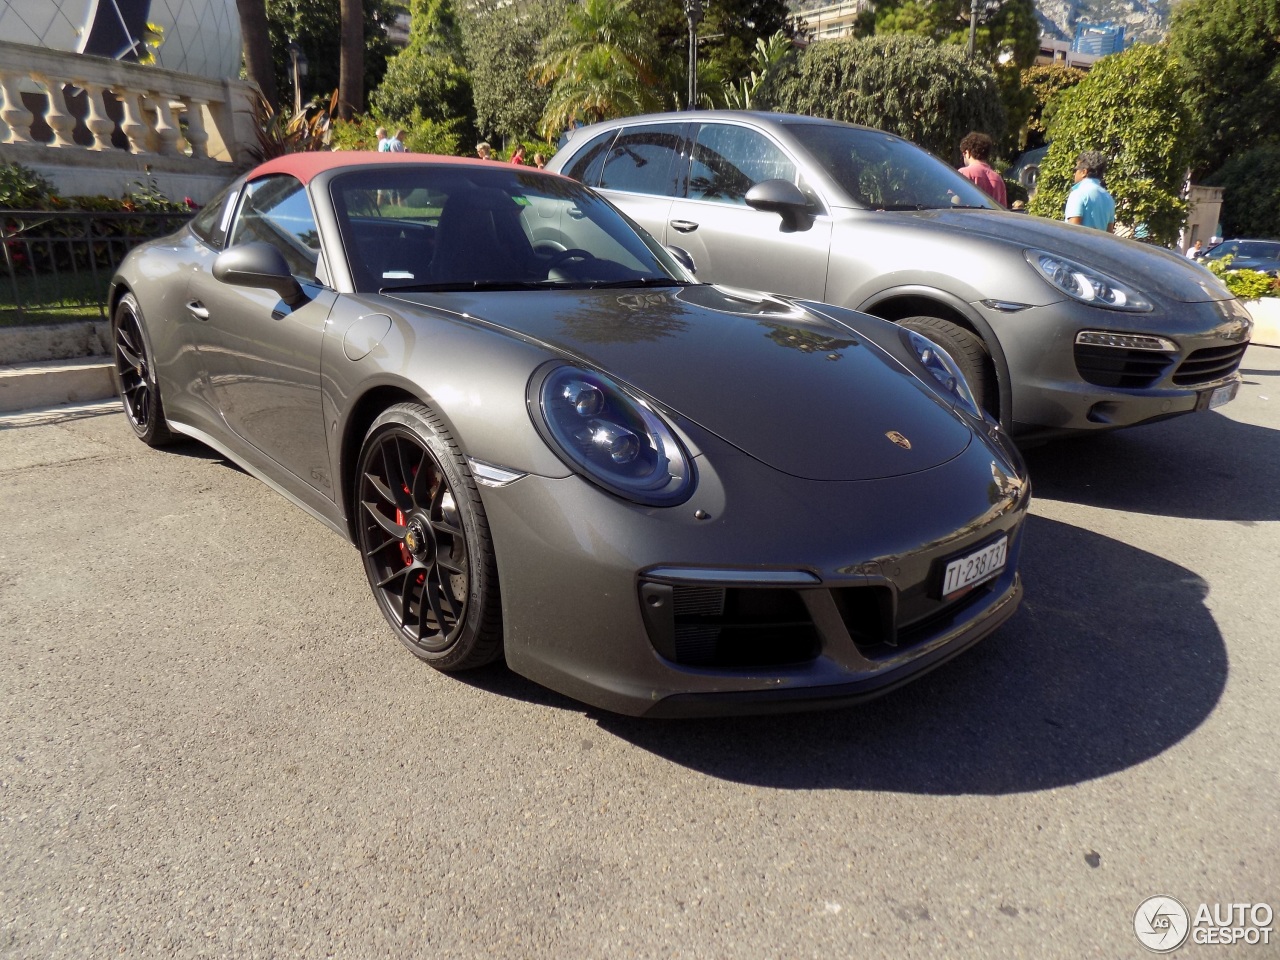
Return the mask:
<path id="1" fill-rule="evenodd" d="M 762 294 L 698 285 L 397 298 L 594 366 L 792 476 L 913 474 L 973 439 L 938 394 L 865 338 Z"/>

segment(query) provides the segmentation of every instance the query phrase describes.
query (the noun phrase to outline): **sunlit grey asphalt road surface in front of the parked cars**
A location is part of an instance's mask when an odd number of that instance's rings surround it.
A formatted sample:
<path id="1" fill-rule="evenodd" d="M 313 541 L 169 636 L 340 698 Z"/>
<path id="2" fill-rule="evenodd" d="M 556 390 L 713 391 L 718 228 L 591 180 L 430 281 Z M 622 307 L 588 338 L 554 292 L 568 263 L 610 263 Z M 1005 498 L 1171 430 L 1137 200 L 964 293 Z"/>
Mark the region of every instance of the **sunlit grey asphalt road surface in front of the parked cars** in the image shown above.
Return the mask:
<path id="1" fill-rule="evenodd" d="M 0 956 L 1075 960 L 1149 956 L 1157 893 L 1280 911 L 1280 349 L 1244 371 L 1029 453 L 973 652 L 724 722 L 436 675 L 206 448 L 0 421 Z"/>

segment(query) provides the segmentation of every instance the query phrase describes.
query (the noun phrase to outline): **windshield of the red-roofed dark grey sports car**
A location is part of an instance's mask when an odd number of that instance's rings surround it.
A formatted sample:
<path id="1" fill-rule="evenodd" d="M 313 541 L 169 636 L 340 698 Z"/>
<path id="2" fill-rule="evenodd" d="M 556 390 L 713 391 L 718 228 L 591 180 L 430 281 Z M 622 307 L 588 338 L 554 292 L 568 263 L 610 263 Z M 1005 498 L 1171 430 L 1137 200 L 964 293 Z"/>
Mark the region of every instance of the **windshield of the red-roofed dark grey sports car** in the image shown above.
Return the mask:
<path id="1" fill-rule="evenodd" d="M 388 164 L 333 179 L 356 289 L 652 287 L 690 282 L 579 183 L 494 164 Z"/>

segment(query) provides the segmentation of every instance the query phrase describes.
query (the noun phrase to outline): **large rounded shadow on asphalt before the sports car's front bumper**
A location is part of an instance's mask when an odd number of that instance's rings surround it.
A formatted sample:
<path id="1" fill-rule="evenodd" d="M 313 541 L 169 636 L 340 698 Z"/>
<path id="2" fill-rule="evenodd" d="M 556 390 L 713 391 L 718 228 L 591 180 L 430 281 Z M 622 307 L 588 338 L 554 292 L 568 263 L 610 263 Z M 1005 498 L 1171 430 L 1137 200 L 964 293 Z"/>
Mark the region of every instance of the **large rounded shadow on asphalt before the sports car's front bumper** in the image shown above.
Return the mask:
<path id="1" fill-rule="evenodd" d="M 1203 580 L 1151 553 L 1034 516 L 1021 570 L 1027 600 L 1014 620 L 879 700 L 710 721 L 588 713 L 602 731 L 740 783 L 998 795 L 1143 763 L 1213 710 L 1228 658 Z M 506 672 L 472 682 L 581 709 Z"/>

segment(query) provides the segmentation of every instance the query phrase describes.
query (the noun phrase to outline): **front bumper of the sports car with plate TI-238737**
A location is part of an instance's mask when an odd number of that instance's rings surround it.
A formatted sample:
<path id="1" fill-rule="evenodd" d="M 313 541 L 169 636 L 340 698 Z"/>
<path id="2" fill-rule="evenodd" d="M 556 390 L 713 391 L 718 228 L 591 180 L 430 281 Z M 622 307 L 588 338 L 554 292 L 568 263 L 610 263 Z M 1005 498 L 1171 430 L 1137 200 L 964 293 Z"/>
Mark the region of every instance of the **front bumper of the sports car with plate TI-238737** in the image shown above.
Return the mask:
<path id="1" fill-rule="evenodd" d="M 626 503 L 577 476 L 483 490 L 513 671 L 631 716 L 828 707 L 919 676 L 1016 608 L 1030 486 L 983 443 L 932 470 L 856 483 L 799 480 L 710 438 L 699 447 L 698 489 L 676 508 Z M 936 596 L 948 558 L 1001 535 L 997 577 L 951 603 Z M 732 591 L 746 621 L 777 626 L 764 631 L 776 645 L 756 636 L 744 643 L 763 653 L 742 653 L 724 634 L 701 654 L 676 650 L 646 607 L 655 588 Z M 782 608 L 792 613 L 769 621 Z"/>

